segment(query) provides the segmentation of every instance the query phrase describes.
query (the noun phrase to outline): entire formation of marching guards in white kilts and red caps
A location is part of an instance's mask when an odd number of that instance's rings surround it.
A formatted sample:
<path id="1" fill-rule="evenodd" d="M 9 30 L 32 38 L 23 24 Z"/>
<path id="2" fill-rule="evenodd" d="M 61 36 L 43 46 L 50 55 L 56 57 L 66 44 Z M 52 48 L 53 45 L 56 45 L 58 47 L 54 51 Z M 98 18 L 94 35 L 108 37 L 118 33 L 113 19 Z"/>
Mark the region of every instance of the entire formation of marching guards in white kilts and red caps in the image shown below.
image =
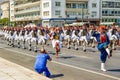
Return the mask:
<path id="1" fill-rule="evenodd" d="M 119 28 L 115 26 L 106 27 L 106 32 L 111 41 L 110 48 L 115 49 L 116 43 L 119 42 L 120 32 Z M 99 26 L 91 25 L 87 26 L 69 26 L 69 27 L 7 27 L 0 28 L 0 35 L 7 41 L 7 44 L 14 47 L 17 43 L 17 47 L 28 48 L 37 52 L 39 44 L 48 45 L 49 41 L 53 48 L 56 47 L 56 43 L 59 44 L 59 49 L 66 46 L 68 49 L 71 46 L 78 50 L 81 45 L 83 51 L 86 51 L 86 46 L 91 45 L 95 47 L 97 39 L 92 36 L 94 32 L 99 33 Z"/>

